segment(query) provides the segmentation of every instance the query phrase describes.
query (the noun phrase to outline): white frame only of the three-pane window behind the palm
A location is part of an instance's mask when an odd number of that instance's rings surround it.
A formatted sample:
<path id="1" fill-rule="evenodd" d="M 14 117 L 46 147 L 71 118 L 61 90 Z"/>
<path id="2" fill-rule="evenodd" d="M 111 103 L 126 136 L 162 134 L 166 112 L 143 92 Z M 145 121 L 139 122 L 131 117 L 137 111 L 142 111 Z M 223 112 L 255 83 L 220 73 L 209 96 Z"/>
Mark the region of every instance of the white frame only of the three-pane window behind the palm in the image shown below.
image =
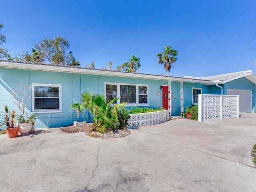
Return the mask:
<path id="1" fill-rule="evenodd" d="M 136 86 L 136 103 L 128 103 L 126 106 L 128 107 L 142 107 L 142 106 L 149 106 L 149 91 L 148 91 L 148 85 L 144 84 L 129 84 L 129 83 L 111 83 L 111 82 L 104 82 L 104 94 L 106 94 L 106 85 L 116 85 L 116 96 L 120 98 L 120 85 L 132 85 Z M 139 86 L 147 87 L 147 103 L 139 103 Z M 120 99 L 117 100 L 116 104 L 120 104 Z"/>

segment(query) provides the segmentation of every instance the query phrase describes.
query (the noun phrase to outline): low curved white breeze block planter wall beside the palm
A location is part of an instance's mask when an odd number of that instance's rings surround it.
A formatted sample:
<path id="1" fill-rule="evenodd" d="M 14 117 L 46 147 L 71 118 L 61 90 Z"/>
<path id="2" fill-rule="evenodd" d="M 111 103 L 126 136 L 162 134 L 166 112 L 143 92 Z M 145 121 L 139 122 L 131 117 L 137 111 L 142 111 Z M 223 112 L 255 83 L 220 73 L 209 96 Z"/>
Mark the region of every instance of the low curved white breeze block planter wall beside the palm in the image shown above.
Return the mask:
<path id="1" fill-rule="evenodd" d="M 169 120 L 169 110 L 130 114 L 128 129 L 155 125 Z"/>

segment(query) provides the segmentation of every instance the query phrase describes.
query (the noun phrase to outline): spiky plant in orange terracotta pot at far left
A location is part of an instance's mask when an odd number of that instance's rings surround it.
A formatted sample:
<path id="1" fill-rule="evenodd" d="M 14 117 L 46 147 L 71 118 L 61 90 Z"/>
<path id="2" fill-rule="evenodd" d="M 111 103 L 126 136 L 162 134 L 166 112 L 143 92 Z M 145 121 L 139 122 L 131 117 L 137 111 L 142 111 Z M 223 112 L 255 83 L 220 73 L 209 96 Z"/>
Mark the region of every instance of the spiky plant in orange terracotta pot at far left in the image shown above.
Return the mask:
<path id="1" fill-rule="evenodd" d="M 14 122 L 15 122 L 14 117 L 16 116 L 15 111 L 12 110 L 12 112 L 8 113 L 7 106 L 4 106 L 4 111 L 5 111 L 5 120 L 0 126 L 3 126 L 4 124 L 6 124 L 7 136 L 10 138 L 17 137 L 19 133 L 19 127 L 14 126 Z"/>

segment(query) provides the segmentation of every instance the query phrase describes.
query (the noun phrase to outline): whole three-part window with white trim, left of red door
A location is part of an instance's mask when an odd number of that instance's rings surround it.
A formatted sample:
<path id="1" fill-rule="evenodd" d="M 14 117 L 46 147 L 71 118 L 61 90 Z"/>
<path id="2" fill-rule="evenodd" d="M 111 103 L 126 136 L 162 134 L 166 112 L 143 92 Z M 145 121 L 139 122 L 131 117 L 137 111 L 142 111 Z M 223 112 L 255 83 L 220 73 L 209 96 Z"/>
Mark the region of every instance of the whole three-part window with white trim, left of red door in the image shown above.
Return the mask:
<path id="1" fill-rule="evenodd" d="M 148 106 L 148 85 L 105 83 L 105 95 L 110 100 L 120 97 L 116 104 L 126 102 L 127 106 Z"/>

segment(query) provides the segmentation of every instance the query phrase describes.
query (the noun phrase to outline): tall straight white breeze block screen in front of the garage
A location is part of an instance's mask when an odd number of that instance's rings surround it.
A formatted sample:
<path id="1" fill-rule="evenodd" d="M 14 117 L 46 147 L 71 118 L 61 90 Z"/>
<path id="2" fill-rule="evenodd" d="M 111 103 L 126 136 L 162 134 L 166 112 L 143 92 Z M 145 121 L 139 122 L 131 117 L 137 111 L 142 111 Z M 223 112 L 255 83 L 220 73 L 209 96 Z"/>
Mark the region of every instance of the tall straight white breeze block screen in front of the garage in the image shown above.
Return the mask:
<path id="1" fill-rule="evenodd" d="M 239 117 L 239 95 L 198 94 L 198 121 Z"/>

